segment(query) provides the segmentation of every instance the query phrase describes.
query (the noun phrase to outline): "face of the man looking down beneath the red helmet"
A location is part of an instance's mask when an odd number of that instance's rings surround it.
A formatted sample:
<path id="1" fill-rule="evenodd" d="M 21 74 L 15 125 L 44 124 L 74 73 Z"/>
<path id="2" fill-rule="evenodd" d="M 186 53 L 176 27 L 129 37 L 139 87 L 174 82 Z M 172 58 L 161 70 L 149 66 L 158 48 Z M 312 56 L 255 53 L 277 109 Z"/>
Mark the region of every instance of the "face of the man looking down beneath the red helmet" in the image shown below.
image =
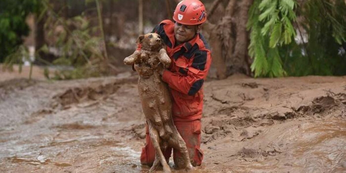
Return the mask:
<path id="1" fill-rule="evenodd" d="M 174 24 L 174 37 L 178 43 L 184 43 L 191 40 L 197 32 L 195 25 L 183 25 L 178 22 Z"/>

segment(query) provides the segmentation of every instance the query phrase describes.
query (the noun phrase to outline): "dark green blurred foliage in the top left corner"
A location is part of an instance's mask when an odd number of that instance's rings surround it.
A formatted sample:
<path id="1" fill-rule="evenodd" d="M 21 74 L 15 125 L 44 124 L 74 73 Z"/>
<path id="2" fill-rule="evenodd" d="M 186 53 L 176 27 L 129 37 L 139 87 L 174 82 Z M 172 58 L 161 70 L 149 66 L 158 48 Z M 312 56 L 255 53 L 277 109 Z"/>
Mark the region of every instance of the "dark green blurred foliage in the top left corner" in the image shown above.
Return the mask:
<path id="1" fill-rule="evenodd" d="M 29 34 L 25 20 L 29 13 L 40 9 L 40 0 L 1 0 L 0 5 L 0 63 L 17 52 L 22 37 Z"/>

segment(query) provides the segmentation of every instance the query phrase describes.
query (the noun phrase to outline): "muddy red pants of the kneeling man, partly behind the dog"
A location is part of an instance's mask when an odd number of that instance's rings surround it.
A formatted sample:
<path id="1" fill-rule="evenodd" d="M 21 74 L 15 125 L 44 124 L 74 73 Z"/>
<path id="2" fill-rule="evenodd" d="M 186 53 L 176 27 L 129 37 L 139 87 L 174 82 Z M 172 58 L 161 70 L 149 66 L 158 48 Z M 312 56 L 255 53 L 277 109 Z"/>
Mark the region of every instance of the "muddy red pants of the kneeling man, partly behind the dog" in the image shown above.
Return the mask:
<path id="1" fill-rule="evenodd" d="M 179 131 L 181 137 L 184 139 L 188 151 L 190 154 L 190 160 L 193 166 L 201 165 L 203 160 L 203 152 L 200 149 L 201 145 L 201 120 L 193 121 L 174 121 L 175 127 Z M 167 148 L 163 152 L 166 160 L 168 161 L 172 153 L 172 148 Z M 173 149 L 173 160 L 175 165 L 179 163 L 180 152 Z M 140 163 L 142 165 L 153 165 L 155 160 L 155 149 L 151 142 L 148 126 L 146 127 L 146 145 L 142 149 L 142 154 L 140 155 Z M 179 166 L 179 165 L 177 165 Z"/>

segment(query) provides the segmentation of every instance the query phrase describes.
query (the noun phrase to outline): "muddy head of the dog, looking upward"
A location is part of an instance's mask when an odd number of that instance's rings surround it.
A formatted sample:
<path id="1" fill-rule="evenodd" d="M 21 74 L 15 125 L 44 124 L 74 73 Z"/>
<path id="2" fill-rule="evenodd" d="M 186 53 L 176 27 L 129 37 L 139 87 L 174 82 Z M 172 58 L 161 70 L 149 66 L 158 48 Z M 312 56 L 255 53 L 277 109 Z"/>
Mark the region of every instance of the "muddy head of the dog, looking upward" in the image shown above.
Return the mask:
<path id="1" fill-rule="evenodd" d="M 156 33 L 149 33 L 139 36 L 137 39 L 137 44 L 142 44 L 142 49 L 148 51 L 158 51 L 164 46 L 160 35 Z"/>

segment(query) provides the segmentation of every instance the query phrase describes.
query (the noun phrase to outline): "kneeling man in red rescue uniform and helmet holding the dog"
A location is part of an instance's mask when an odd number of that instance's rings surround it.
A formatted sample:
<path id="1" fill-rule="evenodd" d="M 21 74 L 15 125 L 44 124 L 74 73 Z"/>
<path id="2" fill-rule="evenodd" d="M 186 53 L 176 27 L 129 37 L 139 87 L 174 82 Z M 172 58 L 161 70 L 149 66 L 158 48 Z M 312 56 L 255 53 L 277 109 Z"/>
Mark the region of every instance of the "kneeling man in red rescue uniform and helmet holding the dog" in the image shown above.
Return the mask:
<path id="1" fill-rule="evenodd" d="M 153 33 L 163 39 L 172 60 L 171 66 L 159 70 L 159 73 L 170 87 L 173 121 L 185 140 L 192 165 L 196 166 L 203 160 L 200 149 L 202 86 L 211 63 L 209 45 L 200 34 L 201 24 L 207 20 L 204 4 L 199 0 L 181 1 L 175 8 L 173 20 L 163 20 L 153 29 Z M 167 161 L 171 152 L 172 148 L 164 152 Z M 180 153 L 173 150 L 173 160 L 178 167 L 179 157 Z M 140 162 L 151 166 L 154 160 L 155 150 L 147 129 L 146 146 L 142 149 Z"/>

